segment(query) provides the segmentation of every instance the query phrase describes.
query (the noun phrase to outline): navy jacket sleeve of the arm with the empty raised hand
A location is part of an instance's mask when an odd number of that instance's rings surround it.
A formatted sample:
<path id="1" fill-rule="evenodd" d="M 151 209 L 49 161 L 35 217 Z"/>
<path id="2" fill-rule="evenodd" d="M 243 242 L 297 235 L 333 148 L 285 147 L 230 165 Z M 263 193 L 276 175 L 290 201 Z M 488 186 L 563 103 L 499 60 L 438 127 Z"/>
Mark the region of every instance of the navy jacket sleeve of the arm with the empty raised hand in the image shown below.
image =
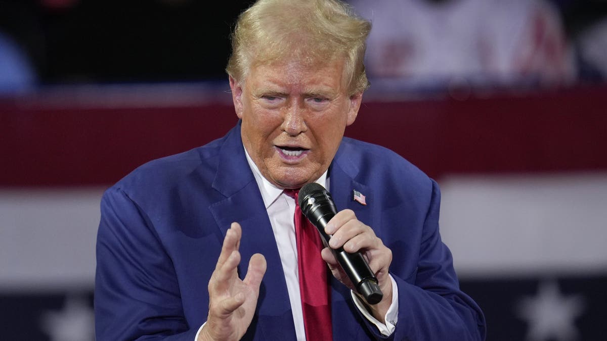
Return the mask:
<path id="1" fill-rule="evenodd" d="M 119 188 L 101 200 L 95 274 L 95 334 L 106 340 L 192 341 L 171 259 L 152 221 Z"/>

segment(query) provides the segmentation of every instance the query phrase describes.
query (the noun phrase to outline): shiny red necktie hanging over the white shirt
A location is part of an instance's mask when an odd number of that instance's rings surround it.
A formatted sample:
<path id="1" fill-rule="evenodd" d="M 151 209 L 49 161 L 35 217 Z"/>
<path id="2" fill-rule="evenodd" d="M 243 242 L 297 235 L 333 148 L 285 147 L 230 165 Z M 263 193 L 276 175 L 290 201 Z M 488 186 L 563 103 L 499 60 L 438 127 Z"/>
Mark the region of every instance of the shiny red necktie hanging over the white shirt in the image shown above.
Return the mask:
<path id="1" fill-rule="evenodd" d="M 331 341 L 333 328 L 327 263 L 320 257 L 324 245 L 316 227 L 304 217 L 299 208 L 299 200 L 297 200 L 299 189 L 285 189 L 285 194 L 295 198 L 297 268 L 304 312 L 305 338 L 307 341 Z"/>

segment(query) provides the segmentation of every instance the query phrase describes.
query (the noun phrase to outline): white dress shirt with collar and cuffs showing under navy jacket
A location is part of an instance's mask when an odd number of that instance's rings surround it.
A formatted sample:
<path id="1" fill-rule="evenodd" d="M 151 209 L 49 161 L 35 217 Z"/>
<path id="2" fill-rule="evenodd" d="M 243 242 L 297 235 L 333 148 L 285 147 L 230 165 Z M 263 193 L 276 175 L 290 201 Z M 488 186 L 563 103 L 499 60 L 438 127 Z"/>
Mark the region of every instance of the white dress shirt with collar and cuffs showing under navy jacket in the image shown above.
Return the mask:
<path id="1" fill-rule="evenodd" d="M 306 341 L 304 314 L 302 312 L 302 303 L 299 293 L 297 241 L 295 238 L 295 225 L 293 221 L 293 216 L 295 214 L 295 199 L 283 193 L 283 189 L 274 186 L 274 184 L 266 180 L 256 164 L 251 160 L 251 157 L 249 157 L 246 149 L 245 154 L 249 167 L 253 170 L 253 175 L 257 181 L 259 191 L 262 194 L 263 203 L 265 204 L 266 211 L 268 211 L 268 217 L 270 218 L 270 224 L 272 225 L 272 231 L 274 232 L 274 238 L 276 239 L 282 270 L 287 282 L 289 302 L 291 303 L 291 311 L 293 312 L 293 323 L 295 325 L 297 341 Z M 325 171 L 315 182 L 327 188 L 327 171 Z M 243 233 L 245 232 L 243 231 Z M 379 322 L 379 320 L 371 316 L 363 303 L 358 299 L 358 296 L 351 292 L 352 299 L 358 309 L 371 323 L 376 325 L 380 333 L 385 336 L 389 336 L 394 332 L 396 320 L 398 320 L 398 288 L 396 288 L 396 282 L 392 278 L 392 275 L 390 275 L 390 280 L 392 280 L 392 305 L 390 305 L 390 309 L 388 309 L 385 316 L 386 324 Z M 200 334 L 200 330 L 202 330 L 203 326 L 204 324 L 198 329 L 196 340 L 198 339 L 198 334 Z"/>

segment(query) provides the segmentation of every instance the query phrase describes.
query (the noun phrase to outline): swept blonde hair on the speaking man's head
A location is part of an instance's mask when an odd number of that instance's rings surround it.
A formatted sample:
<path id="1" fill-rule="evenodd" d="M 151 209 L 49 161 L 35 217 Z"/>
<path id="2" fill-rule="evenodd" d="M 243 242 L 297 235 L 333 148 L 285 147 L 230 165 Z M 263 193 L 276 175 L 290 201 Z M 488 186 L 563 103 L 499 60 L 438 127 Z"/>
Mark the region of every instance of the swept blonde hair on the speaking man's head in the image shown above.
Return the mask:
<path id="1" fill-rule="evenodd" d="M 370 22 L 340 0 L 259 0 L 241 13 L 226 72 L 245 81 L 254 65 L 296 56 L 309 64 L 344 58 L 348 95 L 369 86 L 365 40 Z"/>

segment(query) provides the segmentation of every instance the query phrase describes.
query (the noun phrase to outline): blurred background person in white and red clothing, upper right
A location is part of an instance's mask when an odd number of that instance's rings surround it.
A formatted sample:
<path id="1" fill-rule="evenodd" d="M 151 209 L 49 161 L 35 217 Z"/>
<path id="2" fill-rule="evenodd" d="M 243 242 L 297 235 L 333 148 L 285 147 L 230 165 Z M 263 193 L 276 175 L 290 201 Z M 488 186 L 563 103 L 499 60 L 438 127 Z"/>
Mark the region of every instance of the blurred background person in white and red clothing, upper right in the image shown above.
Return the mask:
<path id="1" fill-rule="evenodd" d="M 562 86 L 575 62 L 561 18 L 542 0 L 350 0 L 370 19 L 371 80 Z"/>

